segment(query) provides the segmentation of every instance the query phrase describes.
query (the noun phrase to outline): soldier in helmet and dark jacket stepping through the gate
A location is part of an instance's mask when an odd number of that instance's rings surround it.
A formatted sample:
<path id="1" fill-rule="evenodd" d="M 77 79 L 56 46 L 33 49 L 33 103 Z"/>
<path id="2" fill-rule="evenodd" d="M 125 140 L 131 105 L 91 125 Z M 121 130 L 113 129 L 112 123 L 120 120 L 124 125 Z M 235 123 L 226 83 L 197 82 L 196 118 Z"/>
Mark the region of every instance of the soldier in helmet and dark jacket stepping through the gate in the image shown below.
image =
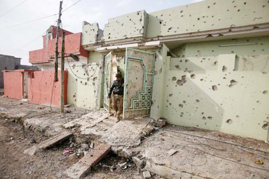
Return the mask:
<path id="1" fill-rule="evenodd" d="M 115 115 L 117 115 L 117 121 L 120 121 L 120 115 L 122 114 L 123 108 L 123 89 L 124 89 L 124 79 L 122 78 L 121 72 L 116 74 L 117 80 L 113 82 L 110 88 L 108 98 L 111 97 L 113 91 L 113 108 L 115 110 Z"/>

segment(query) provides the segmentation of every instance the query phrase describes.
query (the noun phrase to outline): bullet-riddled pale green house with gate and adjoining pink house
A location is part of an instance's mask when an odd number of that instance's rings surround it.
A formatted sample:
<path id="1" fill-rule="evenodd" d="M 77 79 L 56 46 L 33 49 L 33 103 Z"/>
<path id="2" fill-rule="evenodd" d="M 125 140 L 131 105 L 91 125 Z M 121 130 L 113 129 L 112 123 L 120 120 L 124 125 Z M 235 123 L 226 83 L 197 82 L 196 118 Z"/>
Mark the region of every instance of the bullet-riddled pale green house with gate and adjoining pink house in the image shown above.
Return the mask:
<path id="1" fill-rule="evenodd" d="M 207 0 L 114 17 L 104 29 L 83 22 L 81 33 L 66 31 L 66 104 L 109 111 L 108 91 L 120 71 L 123 118 L 166 118 L 170 124 L 264 140 L 268 17 L 267 0 Z M 31 102 L 60 104 L 60 81 L 53 82 L 55 37 L 51 26 L 43 49 L 29 52 L 29 62 L 41 69 L 28 78 Z M 60 47 L 61 33 L 59 52 Z"/>

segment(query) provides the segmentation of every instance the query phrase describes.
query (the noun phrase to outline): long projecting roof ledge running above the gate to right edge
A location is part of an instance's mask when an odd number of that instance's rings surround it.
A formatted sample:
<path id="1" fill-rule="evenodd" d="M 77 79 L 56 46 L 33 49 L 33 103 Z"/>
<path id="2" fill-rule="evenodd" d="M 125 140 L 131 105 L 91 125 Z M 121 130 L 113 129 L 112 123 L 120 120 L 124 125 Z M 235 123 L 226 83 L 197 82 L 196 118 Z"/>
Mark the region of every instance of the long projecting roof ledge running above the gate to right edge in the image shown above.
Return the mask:
<path id="1" fill-rule="evenodd" d="M 231 27 L 224 29 L 214 29 L 208 31 L 194 32 L 194 33 L 184 33 L 170 36 L 157 36 L 153 38 L 125 38 L 119 40 L 105 41 L 98 40 L 92 44 L 83 45 L 82 48 L 85 50 L 105 50 L 110 49 L 116 46 L 128 45 L 128 44 L 138 44 L 138 46 L 145 45 L 150 42 L 173 42 L 173 41 L 184 41 L 193 42 L 193 40 L 224 40 L 228 38 L 240 38 L 239 36 L 247 35 L 248 37 L 252 36 L 264 36 L 264 34 L 269 33 L 269 23 L 265 24 L 256 24 L 249 26 L 240 26 L 240 27 Z"/>

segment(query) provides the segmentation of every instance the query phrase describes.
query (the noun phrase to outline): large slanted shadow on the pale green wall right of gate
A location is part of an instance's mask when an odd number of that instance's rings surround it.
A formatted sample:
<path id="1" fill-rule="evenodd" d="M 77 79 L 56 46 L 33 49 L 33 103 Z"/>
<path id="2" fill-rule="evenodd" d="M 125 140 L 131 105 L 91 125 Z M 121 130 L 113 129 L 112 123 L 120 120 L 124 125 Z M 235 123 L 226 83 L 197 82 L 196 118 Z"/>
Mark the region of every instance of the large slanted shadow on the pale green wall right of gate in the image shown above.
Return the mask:
<path id="1" fill-rule="evenodd" d="M 189 127 L 219 130 L 224 109 L 195 84 L 191 74 L 170 71 L 166 84 L 163 116 L 168 122 Z"/>

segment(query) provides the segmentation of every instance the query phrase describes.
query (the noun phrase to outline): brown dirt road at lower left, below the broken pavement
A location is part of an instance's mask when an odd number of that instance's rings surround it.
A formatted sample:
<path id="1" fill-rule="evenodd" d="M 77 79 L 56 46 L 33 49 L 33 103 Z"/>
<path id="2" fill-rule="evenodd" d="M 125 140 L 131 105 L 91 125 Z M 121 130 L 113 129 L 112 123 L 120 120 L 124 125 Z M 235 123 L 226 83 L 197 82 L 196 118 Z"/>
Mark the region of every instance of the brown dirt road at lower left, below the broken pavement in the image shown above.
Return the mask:
<path id="1" fill-rule="evenodd" d="M 63 154 L 70 141 L 34 156 L 23 154 L 25 149 L 44 139 L 41 134 L 0 118 L 0 178 L 66 178 L 63 172 L 79 159 L 70 161 L 68 155 L 71 154 Z M 125 162 L 127 165 L 119 166 Z M 85 178 L 141 178 L 141 173 L 131 160 L 109 153 Z"/>

